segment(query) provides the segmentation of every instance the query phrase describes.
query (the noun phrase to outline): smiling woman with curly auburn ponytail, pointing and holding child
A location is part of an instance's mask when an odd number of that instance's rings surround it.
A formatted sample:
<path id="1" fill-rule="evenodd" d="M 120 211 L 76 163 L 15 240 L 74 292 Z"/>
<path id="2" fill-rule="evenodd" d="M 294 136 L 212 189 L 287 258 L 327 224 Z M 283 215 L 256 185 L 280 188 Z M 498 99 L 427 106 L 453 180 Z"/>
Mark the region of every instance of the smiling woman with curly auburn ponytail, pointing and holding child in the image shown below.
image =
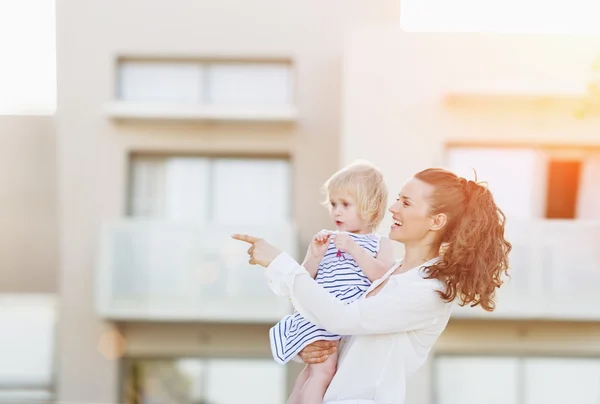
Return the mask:
<path id="1" fill-rule="evenodd" d="M 490 191 L 474 181 L 442 169 L 421 171 L 389 210 L 390 238 L 405 245 L 404 259 L 348 305 L 286 253 L 259 238 L 234 236 L 252 244 L 250 263 L 267 268 L 275 293 L 290 296 L 313 323 L 351 335 L 340 347 L 324 397 L 328 404 L 403 403 L 406 378 L 445 329 L 451 303 L 458 299 L 493 310 L 508 267 L 504 214 Z"/>

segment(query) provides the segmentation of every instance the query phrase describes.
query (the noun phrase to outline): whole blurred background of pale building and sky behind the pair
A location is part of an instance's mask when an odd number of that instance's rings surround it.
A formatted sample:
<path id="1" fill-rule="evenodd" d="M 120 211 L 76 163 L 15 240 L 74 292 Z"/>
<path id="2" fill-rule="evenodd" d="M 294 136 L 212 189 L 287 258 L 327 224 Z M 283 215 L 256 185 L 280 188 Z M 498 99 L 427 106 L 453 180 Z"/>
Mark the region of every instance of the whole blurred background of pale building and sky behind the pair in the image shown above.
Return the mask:
<path id="1" fill-rule="evenodd" d="M 0 1 L 0 401 L 283 403 L 229 235 L 300 259 L 363 158 L 476 169 L 514 245 L 407 404 L 599 403 L 597 6 L 480 3 Z"/>

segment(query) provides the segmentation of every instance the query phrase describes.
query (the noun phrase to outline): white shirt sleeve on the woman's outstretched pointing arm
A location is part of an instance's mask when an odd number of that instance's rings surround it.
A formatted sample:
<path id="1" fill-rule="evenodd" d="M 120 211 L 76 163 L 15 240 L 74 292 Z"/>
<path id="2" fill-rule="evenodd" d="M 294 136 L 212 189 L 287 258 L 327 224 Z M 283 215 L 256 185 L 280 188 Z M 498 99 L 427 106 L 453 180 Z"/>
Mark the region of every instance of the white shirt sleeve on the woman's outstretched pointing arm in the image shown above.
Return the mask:
<path id="1" fill-rule="evenodd" d="M 266 275 L 281 294 L 308 320 L 342 335 L 387 334 L 427 328 L 445 317 L 448 304 L 435 290 L 436 282 L 418 278 L 390 281 L 381 291 L 346 305 L 318 285 L 293 258 L 281 253 Z"/>

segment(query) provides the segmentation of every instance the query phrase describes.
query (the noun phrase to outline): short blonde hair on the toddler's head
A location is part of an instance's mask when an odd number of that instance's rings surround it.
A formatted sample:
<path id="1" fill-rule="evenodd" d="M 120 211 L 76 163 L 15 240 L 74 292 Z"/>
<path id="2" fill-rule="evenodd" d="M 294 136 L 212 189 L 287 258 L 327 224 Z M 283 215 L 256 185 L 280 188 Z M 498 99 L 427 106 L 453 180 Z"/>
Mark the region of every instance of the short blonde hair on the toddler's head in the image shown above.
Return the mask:
<path id="1" fill-rule="evenodd" d="M 326 199 L 324 205 L 330 206 L 331 194 L 347 192 L 358 204 L 358 211 L 369 222 L 373 230 L 379 226 L 388 201 L 387 186 L 381 171 L 365 160 L 358 160 L 333 174 L 323 185 Z"/>

